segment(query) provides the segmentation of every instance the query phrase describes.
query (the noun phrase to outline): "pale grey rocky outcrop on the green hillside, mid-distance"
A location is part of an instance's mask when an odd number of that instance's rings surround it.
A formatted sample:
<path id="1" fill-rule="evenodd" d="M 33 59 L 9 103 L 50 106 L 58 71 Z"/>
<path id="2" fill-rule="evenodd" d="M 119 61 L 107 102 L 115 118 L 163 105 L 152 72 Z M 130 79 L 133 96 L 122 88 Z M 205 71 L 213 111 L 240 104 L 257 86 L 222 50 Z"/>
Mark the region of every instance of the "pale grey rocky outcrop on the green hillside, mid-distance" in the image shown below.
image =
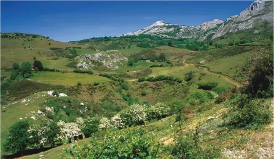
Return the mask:
<path id="1" fill-rule="evenodd" d="M 118 50 L 103 51 L 94 55 L 80 55 L 76 57 L 77 67 L 79 69 L 93 69 L 97 67 L 117 69 L 123 64 L 121 61 L 127 61 L 127 58 Z"/>

